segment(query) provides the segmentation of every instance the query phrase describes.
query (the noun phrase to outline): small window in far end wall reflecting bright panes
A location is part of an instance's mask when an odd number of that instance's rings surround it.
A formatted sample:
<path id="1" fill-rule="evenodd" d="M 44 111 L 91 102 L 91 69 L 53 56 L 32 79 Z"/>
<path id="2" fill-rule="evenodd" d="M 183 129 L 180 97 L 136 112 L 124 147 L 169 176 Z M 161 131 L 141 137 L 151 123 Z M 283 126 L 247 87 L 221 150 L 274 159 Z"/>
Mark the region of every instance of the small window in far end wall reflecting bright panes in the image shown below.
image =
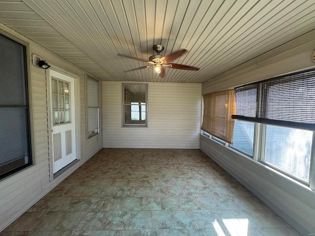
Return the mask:
<path id="1" fill-rule="evenodd" d="M 124 125 L 147 125 L 147 85 L 123 84 Z"/>

